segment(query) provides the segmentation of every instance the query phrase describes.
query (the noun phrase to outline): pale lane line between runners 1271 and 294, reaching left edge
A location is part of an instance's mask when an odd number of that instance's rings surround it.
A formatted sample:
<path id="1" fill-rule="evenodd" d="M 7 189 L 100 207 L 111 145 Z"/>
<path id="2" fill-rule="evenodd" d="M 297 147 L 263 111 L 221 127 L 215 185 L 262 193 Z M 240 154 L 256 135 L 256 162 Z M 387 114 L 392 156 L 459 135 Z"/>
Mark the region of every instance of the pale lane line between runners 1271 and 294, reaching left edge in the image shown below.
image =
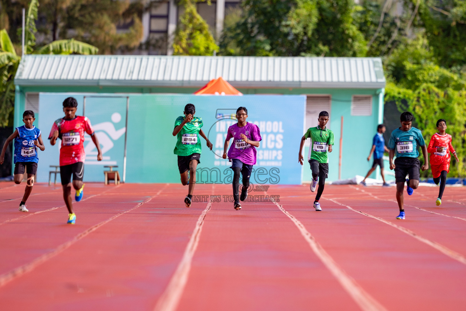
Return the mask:
<path id="1" fill-rule="evenodd" d="M 0 287 L 7 284 L 7 283 L 9 283 L 12 280 L 18 278 L 19 276 L 24 275 L 27 272 L 31 272 L 37 266 L 41 265 L 42 263 L 45 263 L 50 258 L 55 257 L 56 255 L 60 254 L 65 249 L 68 249 L 71 245 L 75 244 L 76 242 L 81 240 L 83 237 L 89 235 L 90 233 L 96 231 L 98 228 L 102 227 L 104 224 L 114 220 L 115 218 L 117 218 L 117 217 L 119 217 L 119 216 L 121 216 L 123 214 L 126 214 L 126 213 L 132 211 L 133 209 L 135 209 L 137 207 L 140 207 L 144 203 L 149 202 L 150 200 L 152 200 L 153 198 L 158 196 L 158 194 L 160 194 L 168 185 L 169 184 L 166 184 L 165 187 L 163 189 L 161 189 L 157 194 L 155 194 L 155 195 L 151 196 L 150 198 L 144 200 L 144 202 L 141 202 L 141 203 L 137 204 L 135 207 L 132 207 L 132 208 L 128 209 L 127 211 L 124 211 L 124 212 L 118 213 L 116 215 L 113 215 L 112 217 L 110 217 L 107 220 L 99 222 L 98 224 L 96 224 L 96 225 L 90 227 L 89 229 L 81 232 L 80 234 L 76 235 L 72 240 L 70 240 L 68 242 L 64 242 L 63 244 L 59 245 L 53 251 L 51 251 L 51 252 L 49 252 L 47 254 L 44 254 L 44 255 L 42 255 L 40 257 L 37 257 L 36 259 L 34 259 L 30 263 L 23 264 L 22 266 L 20 266 L 18 268 L 15 268 L 15 269 L 13 269 L 13 270 L 5 273 L 5 274 L 0 275 Z M 56 208 L 58 208 L 58 207 L 56 207 Z"/>

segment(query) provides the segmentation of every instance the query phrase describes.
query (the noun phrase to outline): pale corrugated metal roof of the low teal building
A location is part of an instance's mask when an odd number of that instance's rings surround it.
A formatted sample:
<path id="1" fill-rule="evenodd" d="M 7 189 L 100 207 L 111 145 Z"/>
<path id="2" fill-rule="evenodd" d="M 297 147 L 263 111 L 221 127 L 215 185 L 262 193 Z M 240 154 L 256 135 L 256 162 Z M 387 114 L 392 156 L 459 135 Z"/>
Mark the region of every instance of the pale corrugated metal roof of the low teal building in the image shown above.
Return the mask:
<path id="1" fill-rule="evenodd" d="M 380 58 L 26 55 L 17 85 L 200 87 L 222 76 L 242 88 L 385 86 Z"/>

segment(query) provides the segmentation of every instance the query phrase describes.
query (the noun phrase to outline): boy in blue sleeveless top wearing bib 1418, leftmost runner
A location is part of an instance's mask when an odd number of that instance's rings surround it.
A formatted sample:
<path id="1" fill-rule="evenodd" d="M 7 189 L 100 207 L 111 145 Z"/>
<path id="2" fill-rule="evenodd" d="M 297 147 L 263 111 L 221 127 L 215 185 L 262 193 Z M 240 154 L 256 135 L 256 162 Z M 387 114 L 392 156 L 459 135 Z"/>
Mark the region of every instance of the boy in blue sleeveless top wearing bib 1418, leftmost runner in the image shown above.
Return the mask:
<path id="1" fill-rule="evenodd" d="M 37 172 L 37 148 L 45 150 L 42 141 L 41 130 L 33 125 L 35 120 L 34 112 L 27 110 L 23 113 L 24 125 L 17 127 L 13 134 L 7 138 L 0 154 L 0 164 L 3 164 L 5 152 L 10 142 L 14 139 L 14 183 L 21 184 L 24 176 L 24 170 L 27 172 L 26 189 L 24 190 L 23 199 L 21 200 L 19 210 L 28 212 L 26 200 L 32 192 L 34 177 Z"/>

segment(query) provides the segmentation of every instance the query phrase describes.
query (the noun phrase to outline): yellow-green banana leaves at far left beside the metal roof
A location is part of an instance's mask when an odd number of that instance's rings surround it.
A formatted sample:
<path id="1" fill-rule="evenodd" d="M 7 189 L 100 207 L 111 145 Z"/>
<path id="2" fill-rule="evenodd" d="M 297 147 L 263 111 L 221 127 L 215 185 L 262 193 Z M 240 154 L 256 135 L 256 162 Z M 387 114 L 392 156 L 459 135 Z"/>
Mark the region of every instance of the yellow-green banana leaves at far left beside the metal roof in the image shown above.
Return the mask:
<path id="1" fill-rule="evenodd" d="M 26 54 L 97 54 L 98 48 L 74 39 L 53 41 L 34 51 L 35 21 L 39 2 L 31 0 L 26 13 L 25 50 Z M 19 33 L 22 29 L 19 29 Z M 0 126 L 11 122 L 14 107 L 14 76 L 21 57 L 16 54 L 14 45 L 6 29 L 0 30 Z"/>

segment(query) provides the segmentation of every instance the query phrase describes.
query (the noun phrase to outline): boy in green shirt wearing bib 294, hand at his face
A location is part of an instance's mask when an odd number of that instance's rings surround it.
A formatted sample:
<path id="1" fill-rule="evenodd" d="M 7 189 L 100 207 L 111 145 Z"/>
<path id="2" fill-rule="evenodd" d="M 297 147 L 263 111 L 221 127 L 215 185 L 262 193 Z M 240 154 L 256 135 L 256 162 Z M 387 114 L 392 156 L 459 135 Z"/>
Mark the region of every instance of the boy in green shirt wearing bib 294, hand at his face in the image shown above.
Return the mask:
<path id="1" fill-rule="evenodd" d="M 178 140 L 175 145 L 174 154 L 178 155 L 178 170 L 181 175 L 183 186 L 189 185 L 188 195 L 185 198 L 186 207 L 191 206 L 192 193 L 196 183 L 196 168 L 201 163 L 201 142 L 198 136 L 202 136 L 207 141 L 207 147 L 212 150 L 212 143 L 207 139 L 204 131 L 201 130 L 203 125 L 202 118 L 194 117 L 196 107 L 193 104 L 186 104 L 185 116 L 179 116 L 175 120 L 175 129 L 173 136 Z"/>

